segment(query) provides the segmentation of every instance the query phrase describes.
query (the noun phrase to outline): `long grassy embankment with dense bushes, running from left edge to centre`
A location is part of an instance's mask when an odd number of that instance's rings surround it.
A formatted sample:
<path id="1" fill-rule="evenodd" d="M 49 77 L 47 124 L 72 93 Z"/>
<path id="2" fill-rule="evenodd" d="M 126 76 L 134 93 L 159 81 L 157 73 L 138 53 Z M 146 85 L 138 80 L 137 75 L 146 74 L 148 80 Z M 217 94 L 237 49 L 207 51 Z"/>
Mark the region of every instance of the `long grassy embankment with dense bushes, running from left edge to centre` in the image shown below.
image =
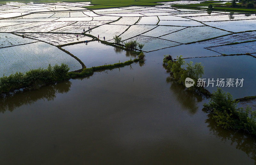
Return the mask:
<path id="1" fill-rule="evenodd" d="M 58 81 L 63 81 L 67 79 L 82 78 L 90 76 L 94 71 L 114 69 L 130 65 L 134 62 L 144 62 L 145 55 L 143 52 L 140 52 L 139 56 L 134 60 L 128 60 L 124 63 L 116 63 L 109 65 L 96 66 L 91 68 L 84 67 L 78 71 L 69 71 L 68 65 L 61 64 L 51 66 L 49 65 L 47 69 L 34 69 L 26 73 L 16 73 L 10 76 L 3 76 L 0 78 L 0 94 L 8 94 L 15 90 L 33 90 L 39 89 L 42 86 L 47 84 L 56 83 Z"/>

